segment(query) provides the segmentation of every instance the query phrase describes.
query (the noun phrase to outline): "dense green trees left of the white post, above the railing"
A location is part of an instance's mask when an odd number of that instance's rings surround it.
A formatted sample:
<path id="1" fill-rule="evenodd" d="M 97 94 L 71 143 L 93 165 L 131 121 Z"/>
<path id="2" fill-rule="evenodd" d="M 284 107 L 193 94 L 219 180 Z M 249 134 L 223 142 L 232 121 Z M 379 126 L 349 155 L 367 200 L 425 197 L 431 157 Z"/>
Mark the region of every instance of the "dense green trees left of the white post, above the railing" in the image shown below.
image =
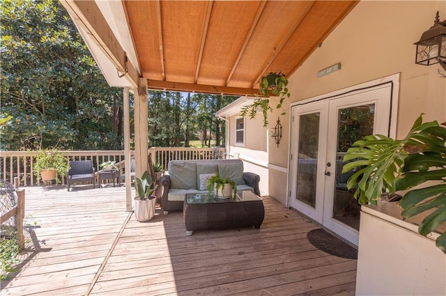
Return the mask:
<path id="1" fill-rule="evenodd" d="M 4 0 L 0 10 L 1 111 L 11 117 L 0 149 L 121 149 L 122 91 L 109 88 L 59 1 Z"/>

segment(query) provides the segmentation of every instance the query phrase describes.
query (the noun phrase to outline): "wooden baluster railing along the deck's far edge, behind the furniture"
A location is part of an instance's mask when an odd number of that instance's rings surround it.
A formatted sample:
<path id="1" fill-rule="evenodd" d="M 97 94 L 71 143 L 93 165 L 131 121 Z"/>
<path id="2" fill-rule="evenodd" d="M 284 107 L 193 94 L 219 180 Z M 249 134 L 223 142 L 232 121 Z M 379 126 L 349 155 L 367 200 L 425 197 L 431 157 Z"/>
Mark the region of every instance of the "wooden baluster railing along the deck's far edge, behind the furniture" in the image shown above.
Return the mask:
<path id="1" fill-rule="evenodd" d="M 218 148 L 180 148 L 180 147 L 154 147 L 148 149 L 153 163 L 160 163 L 164 170 L 171 160 L 186 159 L 215 159 L 225 158 L 225 149 Z M 37 151 L 0 151 L 0 179 L 13 183 L 14 178 L 19 178 L 20 186 L 36 186 L 41 181 L 33 173 L 33 165 L 36 161 Z M 92 160 L 95 171 L 100 170 L 100 164 L 105 161 L 124 163 L 124 151 L 122 150 L 97 150 L 97 151 L 63 151 L 67 161 Z M 134 151 L 130 153 L 134 155 Z M 59 178 L 63 184 L 65 178 Z"/>

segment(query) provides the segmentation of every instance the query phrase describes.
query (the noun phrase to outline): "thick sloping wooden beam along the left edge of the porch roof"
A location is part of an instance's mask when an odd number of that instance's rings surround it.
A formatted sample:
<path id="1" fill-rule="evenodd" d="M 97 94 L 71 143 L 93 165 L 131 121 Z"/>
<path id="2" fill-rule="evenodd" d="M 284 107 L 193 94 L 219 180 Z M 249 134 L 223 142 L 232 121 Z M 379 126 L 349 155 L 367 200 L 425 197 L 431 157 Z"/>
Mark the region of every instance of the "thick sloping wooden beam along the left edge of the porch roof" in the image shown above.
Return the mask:
<path id="1" fill-rule="evenodd" d="M 116 69 L 125 72 L 125 77 L 134 87 L 138 86 L 139 74 L 126 57 L 112 29 L 107 24 L 95 1 L 66 1 L 62 5 L 70 12 L 77 24 L 91 35 L 92 40 L 109 57 Z M 118 75 L 118 73 L 116 73 Z"/>

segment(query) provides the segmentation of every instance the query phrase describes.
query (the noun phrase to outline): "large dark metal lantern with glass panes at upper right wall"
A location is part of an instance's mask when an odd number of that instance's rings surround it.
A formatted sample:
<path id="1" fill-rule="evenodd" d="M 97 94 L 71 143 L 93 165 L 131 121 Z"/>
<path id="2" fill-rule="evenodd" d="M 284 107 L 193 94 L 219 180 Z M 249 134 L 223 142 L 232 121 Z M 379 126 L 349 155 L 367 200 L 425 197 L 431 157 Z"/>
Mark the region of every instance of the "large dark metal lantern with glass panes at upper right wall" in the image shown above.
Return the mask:
<path id="1" fill-rule="evenodd" d="M 429 66 L 440 63 L 446 71 L 446 19 L 440 22 L 438 11 L 433 26 L 414 44 L 417 45 L 416 64 Z"/>

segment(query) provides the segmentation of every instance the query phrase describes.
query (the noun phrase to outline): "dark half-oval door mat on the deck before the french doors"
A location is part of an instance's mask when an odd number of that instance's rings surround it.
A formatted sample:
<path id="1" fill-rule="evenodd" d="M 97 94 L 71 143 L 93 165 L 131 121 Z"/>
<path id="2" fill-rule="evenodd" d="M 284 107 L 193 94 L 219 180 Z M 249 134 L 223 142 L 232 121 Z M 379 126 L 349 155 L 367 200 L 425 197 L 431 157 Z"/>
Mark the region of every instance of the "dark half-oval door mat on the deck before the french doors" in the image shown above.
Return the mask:
<path id="1" fill-rule="evenodd" d="M 333 256 L 357 259 L 357 249 L 323 229 L 314 229 L 307 233 L 309 242 L 321 251 Z"/>

